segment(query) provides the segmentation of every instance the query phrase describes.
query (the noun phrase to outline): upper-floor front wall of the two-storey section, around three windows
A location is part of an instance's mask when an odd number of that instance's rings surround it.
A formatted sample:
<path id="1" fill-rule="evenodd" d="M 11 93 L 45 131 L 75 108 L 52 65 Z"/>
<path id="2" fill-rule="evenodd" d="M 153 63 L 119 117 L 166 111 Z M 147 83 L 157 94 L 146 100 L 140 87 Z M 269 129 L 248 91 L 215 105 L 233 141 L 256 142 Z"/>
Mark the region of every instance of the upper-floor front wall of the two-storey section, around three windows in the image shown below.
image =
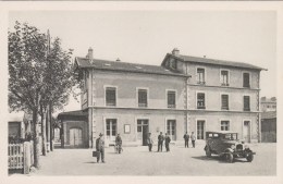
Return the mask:
<path id="1" fill-rule="evenodd" d="M 137 88 L 148 89 L 148 107 L 151 109 L 167 109 L 167 90 L 176 90 L 176 109 L 184 109 L 184 77 L 165 75 L 94 72 L 93 98 L 94 106 L 106 107 L 104 88 L 116 87 L 116 107 L 138 108 Z"/>

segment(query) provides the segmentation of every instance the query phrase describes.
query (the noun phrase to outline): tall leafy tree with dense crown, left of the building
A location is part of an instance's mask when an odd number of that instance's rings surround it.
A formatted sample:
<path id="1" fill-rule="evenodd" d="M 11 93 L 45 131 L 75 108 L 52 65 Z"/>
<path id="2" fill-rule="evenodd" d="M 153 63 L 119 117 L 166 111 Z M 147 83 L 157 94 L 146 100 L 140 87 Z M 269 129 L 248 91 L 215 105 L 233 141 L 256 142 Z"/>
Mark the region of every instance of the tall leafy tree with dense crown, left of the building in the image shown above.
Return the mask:
<path id="1" fill-rule="evenodd" d="M 72 50 L 64 51 L 59 38 L 51 47 L 50 42 L 46 34 L 26 23 L 16 22 L 14 32 L 9 32 L 9 106 L 12 110 L 33 112 L 36 168 L 40 167 L 38 113 L 45 126 L 48 106 L 51 110 L 64 106 L 75 82 Z M 46 132 L 41 133 L 45 137 Z"/>

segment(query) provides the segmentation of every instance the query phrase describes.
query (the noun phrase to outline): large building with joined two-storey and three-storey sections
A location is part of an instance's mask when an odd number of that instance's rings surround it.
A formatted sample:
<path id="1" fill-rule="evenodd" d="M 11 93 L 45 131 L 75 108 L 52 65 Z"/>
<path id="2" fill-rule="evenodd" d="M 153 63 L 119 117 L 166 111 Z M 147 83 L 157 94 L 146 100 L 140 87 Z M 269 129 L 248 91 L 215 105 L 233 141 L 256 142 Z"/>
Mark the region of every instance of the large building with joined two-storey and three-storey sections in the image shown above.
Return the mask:
<path id="1" fill-rule="evenodd" d="M 260 140 L 259 75 L 246 63 L 168 53 L 160 66 L 75 58 L 84 82 L 88 147 L 99 133 L 107 145 L 119 133 L 123 144 L 147 145 L 168 133 L 173 143 L 185 132 L 205 139 L 206 131 L 234 131 L 246 142 Z"/>

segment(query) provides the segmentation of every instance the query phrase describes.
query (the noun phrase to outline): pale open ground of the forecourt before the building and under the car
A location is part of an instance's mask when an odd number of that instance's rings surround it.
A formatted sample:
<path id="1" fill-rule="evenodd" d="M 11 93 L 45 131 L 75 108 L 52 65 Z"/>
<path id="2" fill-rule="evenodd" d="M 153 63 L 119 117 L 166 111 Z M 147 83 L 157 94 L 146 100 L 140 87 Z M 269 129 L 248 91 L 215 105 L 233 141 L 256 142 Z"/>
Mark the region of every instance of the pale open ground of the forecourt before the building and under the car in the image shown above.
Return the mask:
<path id="1" fill-rule="evenodd" d="M 207 158 L 197 148 L 171 146 L 170 152 L 149 152 L 147 147 L 124 147 L 121 155 L 106 148 L 106 163 L 96 163 L 91 149 L 56 149 L 40 157 L 41 169 L 30 175 L 275 175 L 276 145 L 250 145 L 257 152 L 251 163 L 242 159 L 226 163 Z"/>

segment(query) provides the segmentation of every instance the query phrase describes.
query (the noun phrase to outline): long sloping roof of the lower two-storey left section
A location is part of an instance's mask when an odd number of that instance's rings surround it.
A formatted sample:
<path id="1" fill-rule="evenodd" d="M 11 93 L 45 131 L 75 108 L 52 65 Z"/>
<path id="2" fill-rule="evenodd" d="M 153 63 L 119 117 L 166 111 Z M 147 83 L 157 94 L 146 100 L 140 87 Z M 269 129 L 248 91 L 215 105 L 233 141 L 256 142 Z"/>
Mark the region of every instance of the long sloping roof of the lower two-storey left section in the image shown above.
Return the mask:
<path id="1" fill-rule="evenodd" d="M 75 61 L 78 68 L 91 68 L 98 70 L 108 70 L 108 71 L 149 73 L 149 74 L 174 75 L 174 76 L 188 76 L 182 74 L 181 72 L 172 72 L 159 65 L 136 64 L 136 63 L 108 61 L 108 60 L 100 60 L 100 59 L 89 60 L 87 58 L 79 58 L 79 57 L 76 57 Z"/>

